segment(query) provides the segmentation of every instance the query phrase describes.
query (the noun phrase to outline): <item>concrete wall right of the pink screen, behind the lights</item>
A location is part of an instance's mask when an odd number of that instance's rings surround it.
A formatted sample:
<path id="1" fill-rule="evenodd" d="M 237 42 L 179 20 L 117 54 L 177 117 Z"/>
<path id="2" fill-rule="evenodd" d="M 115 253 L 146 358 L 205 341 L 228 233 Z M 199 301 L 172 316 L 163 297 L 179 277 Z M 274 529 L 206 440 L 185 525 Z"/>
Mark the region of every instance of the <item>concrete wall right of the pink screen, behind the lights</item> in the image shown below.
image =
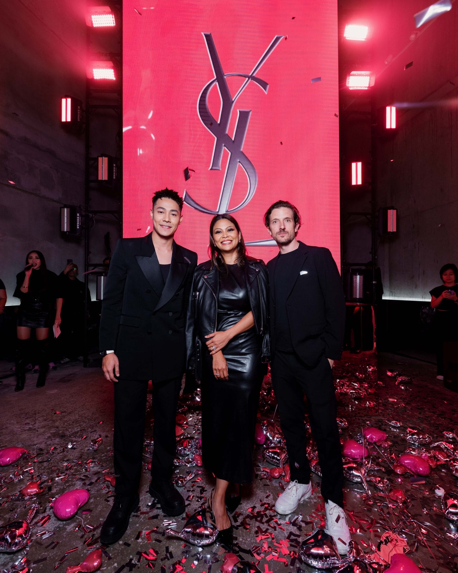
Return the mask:
<path id="1" fill-rule="evenodd" d="M 396 136 L 378 140 L 376 183 L 378 206 L 398 209 L 398 232 L 378 249 L 385 297 L 430 300 L 440 267 L 458 264 L 458 10 L 416 30 L 424 7 L 383 0 L 374 11 L 377 107 L 410 103 Z"/>

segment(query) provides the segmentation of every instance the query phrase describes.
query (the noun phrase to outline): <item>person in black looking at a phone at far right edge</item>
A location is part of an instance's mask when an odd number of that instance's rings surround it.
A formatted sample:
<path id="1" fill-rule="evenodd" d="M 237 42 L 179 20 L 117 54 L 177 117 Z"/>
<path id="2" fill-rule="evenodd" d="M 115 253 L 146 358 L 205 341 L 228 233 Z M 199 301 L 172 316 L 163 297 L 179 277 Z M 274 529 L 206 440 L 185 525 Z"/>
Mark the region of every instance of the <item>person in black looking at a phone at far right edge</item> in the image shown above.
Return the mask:
<path id="1" fill-rule="evenodd" d="M 444 342 L 458 340 L 458 268 L 449 263 L 440 271 L 443 284 L 429 291 L 431 306 L 436 309 L 433 328 L 436 338 L 437 379 L 444 379 Z"/>

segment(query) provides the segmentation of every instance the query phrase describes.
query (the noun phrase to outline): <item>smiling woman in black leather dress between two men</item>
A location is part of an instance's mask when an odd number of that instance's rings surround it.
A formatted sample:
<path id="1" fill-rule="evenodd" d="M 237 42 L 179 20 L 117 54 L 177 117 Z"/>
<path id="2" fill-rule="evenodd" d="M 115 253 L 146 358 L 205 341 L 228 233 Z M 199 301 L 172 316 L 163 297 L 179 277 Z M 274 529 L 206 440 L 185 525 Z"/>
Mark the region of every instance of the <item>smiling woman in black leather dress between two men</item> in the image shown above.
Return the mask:
<path id="1" fill-rule="evenodd" d="M 225 507 L 230 483 L 252 480 L 259 392 L 269 358 L 268 280 L 262 261 L 247 257 L 234 217 L 210 224 L 211 260 L 195 270 L 188 308 L 188 368 L 202 387 L 202 456 L 216 477 L 210 505 L 220 541 L 232 541 Z"/>

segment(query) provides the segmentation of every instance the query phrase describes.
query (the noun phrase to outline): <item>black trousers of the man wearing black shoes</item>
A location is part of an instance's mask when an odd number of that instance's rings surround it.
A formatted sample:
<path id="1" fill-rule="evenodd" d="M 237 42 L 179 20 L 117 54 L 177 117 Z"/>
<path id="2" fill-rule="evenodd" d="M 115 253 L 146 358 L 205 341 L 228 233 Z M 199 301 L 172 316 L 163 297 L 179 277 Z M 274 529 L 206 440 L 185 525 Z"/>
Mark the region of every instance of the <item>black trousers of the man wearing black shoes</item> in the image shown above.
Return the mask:
<path id="1" fill-rule="evenodd" d="M 180 389 L 181 378 L 153 382 L 153 480 L 168 480 L 172 475 L 176 448 L 176 407 Z M 119 379 L 115 382 L 115 492 L 123 497 L 133 496 L 139 489 L 147 391 L 148 380 Z"/>

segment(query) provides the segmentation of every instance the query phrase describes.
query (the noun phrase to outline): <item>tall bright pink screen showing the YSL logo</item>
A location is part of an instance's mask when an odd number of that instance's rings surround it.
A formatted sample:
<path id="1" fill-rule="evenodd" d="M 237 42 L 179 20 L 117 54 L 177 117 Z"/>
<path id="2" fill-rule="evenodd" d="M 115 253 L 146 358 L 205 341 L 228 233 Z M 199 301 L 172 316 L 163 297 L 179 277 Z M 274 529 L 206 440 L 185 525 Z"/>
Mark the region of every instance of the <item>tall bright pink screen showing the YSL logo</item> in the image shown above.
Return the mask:
<path id="1" fill-rule="evenodd" d="M 301 211 L 298 238 L 339 265 L 337 0 L 123 11 L 124 236 L 151 230 L 152 194 L 169 187 L 186 202 L 176 241 L 199 262 L 212 213 L 227 210 L 267 262 L 278 250 L 263 214 L 285 199 Z"/>

